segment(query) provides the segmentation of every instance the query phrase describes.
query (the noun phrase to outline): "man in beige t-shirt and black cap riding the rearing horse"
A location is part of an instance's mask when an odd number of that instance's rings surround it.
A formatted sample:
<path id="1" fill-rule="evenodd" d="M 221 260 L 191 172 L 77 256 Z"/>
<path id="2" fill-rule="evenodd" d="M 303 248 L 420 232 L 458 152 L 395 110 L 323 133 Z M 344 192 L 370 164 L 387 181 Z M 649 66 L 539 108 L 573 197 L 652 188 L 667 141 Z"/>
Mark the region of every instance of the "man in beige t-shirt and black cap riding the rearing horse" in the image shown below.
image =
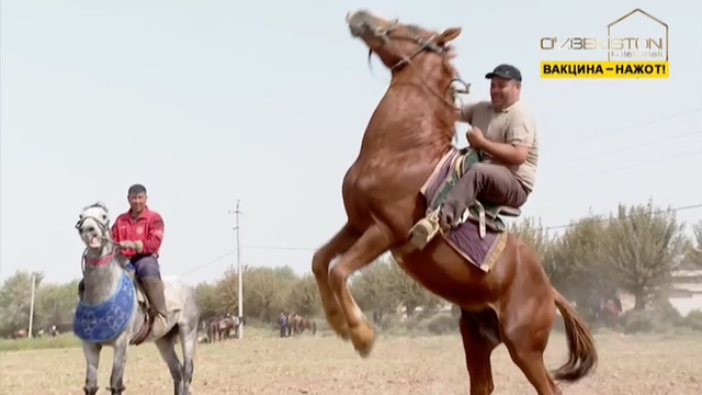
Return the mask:
<path id="1" fill-rule="evenodd" d="M 536 126 L 520 99 L 522 76 L 511 65 L 488 72 L 490 101 L 461 109 L 461 121 L 473 128 L 466 133 L 471 147 L 482 153 L 451 190 L 440 211 L 440 219 L 456 226 L 476 200 L 519 208 L 534 188 L 539 162 Z"/>

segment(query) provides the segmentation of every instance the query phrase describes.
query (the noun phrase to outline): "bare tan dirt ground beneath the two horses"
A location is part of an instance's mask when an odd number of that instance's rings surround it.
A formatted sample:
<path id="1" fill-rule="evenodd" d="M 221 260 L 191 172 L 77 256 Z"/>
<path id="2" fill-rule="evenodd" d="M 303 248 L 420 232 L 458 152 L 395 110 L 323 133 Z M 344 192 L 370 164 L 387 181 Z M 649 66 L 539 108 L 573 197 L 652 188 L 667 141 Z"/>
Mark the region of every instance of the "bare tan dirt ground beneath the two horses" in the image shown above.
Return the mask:
<path id="1" fill-rule="evenodd" d="M 702 394 L 702 336 L 598 335 L 600 364 L 564 394 Z M 102 353 L 101 388 L 109 386 L 112 350 Z M 554 332 L 547 366 L 566 358 L 563 334 Z M 495 394 L 535 394 L 503 346 L 492 356 Z M 82 394 L 80 348 L 0 354 L 0 393 Z M 127 394 L 172 394 L 171 379 L 152 345 L 132 348 Z M 199 345 L 197 395 L 216 394 L 467 394 L 468 381 L 458 336 L 378 337 L 369 359 L 331 336 L 252 337 Z M 100 393 L 106 393 L 101 390 Z"/>

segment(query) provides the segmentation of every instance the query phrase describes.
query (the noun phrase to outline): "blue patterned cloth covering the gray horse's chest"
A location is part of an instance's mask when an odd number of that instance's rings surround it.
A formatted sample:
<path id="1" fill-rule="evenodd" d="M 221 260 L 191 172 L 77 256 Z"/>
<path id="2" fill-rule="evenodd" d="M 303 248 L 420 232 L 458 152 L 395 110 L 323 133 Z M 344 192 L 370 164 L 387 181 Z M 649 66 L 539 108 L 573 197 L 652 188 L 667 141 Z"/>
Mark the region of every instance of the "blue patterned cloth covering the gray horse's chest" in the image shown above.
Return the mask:
<path id="1" fill-rule="evenodd" d="M 115 293 L 105 302 L 90 305 L 78 302 L 73 315 L 73 332 L 86 341 L 115 339 L 126 329 L 136 309 L 136 289 L 127 273 L 122 274 Z"/>

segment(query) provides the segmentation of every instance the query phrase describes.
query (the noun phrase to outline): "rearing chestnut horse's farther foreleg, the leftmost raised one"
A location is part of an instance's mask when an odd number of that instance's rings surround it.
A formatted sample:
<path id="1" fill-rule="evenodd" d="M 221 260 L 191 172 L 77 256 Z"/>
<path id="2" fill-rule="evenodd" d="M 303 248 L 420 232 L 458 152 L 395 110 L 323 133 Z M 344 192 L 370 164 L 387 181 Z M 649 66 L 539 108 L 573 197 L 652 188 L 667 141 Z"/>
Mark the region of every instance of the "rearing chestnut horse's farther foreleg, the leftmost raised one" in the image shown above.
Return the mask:
<path id="1" fill-rule="evenodd" d="M 317 280 L 319 298 L 327 316 L 327 321 L 337 335 L 343 339 L 349 338 L 349 327 L 347 326 L 341 307 L 329 287 L 329 264 L 338 255 L 346 252 L 358 240 L 359 236 L 346 224 L 327 244 L 321 246 L 312 260 L 312 271 Z M 294 330 L 297 334 L 297 329 Z"/>

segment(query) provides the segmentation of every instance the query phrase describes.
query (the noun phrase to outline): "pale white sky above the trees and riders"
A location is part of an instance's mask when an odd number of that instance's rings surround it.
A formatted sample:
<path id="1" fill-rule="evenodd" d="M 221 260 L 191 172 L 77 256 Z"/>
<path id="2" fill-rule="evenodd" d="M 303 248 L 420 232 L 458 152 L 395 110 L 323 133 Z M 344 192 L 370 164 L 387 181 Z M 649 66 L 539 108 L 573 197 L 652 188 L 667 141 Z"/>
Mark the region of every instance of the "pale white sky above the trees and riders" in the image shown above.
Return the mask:
<path id="1" fill-rule="evenodd" d="M 202 268 L 235 248 L 227 212 L 237 199 L 242 263 L 309 272 L 313 249 L 346 219 L 341 180 L 389 82 L 377 59 L 369 69 L 365 46 L 344 23 L 358 8 L 463 27 L 455 65 L 473 100 L 489 98 L 484 76 L 497 64 L 521 68 L 541 140 L 525 216 L 562 225 L 619 202 L 702 203 L 700 1 L 1 7 L 2 279 L 18 269 L 44 271 L 47 281 L 79 278 L 80 210 L 104 201 L 114 218 L 135 182 L 166 221 L 163 274 L 191 272 L 196 283 L 235 262 L 230 253 Z M 608 23 L 635 8 L 669 25 L 669 79 L 540 78 L 541 37 L 604 37 Z M 605 155 L 612 150 L 621 151 Z M 697 221 L 702 210 L 678 217 Z"/>

